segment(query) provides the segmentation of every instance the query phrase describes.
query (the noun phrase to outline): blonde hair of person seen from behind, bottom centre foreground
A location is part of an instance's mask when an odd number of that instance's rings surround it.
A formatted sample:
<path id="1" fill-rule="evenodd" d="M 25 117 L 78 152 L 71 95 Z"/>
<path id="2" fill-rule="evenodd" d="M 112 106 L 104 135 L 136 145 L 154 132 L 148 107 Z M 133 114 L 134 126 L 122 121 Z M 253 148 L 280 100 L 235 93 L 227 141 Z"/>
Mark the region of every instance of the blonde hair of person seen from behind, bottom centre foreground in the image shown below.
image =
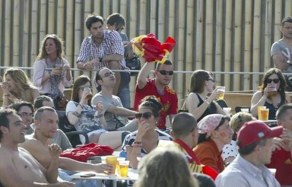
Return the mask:
<path id="1" fill-rule="evenodd" d="M 177 148 L 156 148 L 138 165 L 133 187 L 199 187 L 183 153 Z"/>

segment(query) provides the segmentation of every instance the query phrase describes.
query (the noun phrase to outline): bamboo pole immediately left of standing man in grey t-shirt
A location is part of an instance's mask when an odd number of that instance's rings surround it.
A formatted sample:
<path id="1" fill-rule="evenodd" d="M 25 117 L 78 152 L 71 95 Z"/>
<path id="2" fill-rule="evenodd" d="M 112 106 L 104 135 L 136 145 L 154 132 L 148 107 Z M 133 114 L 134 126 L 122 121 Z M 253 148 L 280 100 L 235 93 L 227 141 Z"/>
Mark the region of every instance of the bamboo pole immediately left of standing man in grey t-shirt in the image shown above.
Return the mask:
<path id="1" fill-rule="evenodd" d="M 265 17 L 265 46 L 264 46 L 264 70 L 271 68 L 271 37 L 272 37 L 272 0 L 266 0 L 266 17 Z"/>

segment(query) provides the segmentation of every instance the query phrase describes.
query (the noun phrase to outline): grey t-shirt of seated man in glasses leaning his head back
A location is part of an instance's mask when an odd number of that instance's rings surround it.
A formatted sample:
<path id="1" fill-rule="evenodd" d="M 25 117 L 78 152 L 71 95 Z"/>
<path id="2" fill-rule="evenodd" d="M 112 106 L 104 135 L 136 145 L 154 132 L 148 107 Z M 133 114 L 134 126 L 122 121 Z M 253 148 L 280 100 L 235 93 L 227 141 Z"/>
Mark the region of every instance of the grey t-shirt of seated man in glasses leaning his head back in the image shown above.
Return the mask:
<path id="1" fill-rule="evenodd" d="M 125 117 L 117 116 L 113 113 L 107 112 L 110 106 L 119 106 L 123 107 L 121 99 L 118 96 L 112 95 L 112 97 L 107 97 L 101 94 L 101 92 L 95 94 L 91 100 L 91 104 L 95 105 L 97 101 L 102 101 L 104 117 L 107 121 L 108 127 L 107 130 L 116 130 L 120 127 L 125 126 L 128 123 L 128 120 Z"/>

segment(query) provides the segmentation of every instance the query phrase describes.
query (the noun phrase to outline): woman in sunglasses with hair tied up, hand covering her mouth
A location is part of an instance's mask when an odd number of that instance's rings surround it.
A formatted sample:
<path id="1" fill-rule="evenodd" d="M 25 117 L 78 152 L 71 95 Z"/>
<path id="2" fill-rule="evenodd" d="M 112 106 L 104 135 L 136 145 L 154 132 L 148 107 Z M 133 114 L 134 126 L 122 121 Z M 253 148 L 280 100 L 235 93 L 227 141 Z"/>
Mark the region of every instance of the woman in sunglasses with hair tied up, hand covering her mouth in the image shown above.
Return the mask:
<path id="1" fill-rule="evenodd" d="M 122 149 L 127 152 L 130 166 L 137 169 L 137 157 L 143 157 L 157 147 L 159 140 L 172 140 L 171 136 L 158 130 L 161 103 L 155 96 L 146 96 L 139 105 L 135 116 L 138 119 L 138 130 L 125 137 Z"/>

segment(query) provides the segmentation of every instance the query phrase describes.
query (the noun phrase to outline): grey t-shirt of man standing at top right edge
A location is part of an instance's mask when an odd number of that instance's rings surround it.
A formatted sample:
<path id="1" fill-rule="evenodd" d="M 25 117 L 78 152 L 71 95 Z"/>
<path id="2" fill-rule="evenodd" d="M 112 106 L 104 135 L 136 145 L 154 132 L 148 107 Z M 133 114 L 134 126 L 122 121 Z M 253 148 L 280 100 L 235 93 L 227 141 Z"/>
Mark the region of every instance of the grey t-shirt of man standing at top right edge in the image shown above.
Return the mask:
<path id="1" fill-rule="evenodd" d="M 272 45 L 271 48 L 271 56 L 274 54 L 282 54 L 284 57 L 284 62 L 290 64 L 290 67 L 283 71 L 286 73 L 292 73 L 292 46 L 288 46 L 286 43 L 283 42 L 283 39 L 280 39 Z"/>

